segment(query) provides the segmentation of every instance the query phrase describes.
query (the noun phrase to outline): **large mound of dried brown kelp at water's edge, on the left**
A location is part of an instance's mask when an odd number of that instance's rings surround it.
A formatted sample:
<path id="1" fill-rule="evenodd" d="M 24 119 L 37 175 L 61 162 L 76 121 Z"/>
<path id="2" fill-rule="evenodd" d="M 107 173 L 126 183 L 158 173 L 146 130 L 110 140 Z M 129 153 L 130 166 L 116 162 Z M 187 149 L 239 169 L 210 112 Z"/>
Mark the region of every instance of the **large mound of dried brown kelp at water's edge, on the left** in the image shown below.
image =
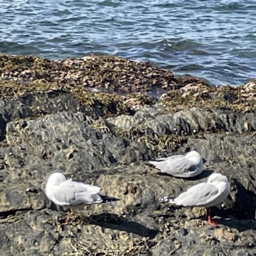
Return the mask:
<path id="1" fill-rule="evenodd" d="M 114 56 L 86 56 L 47 60 L 36 56 L 0 55 L 2 79 L 57 83 L 60 87 L 108 88 L 118 92 L 143 92 L 152 88 L 176 88 L 170 70 L 148 62 Z"/>

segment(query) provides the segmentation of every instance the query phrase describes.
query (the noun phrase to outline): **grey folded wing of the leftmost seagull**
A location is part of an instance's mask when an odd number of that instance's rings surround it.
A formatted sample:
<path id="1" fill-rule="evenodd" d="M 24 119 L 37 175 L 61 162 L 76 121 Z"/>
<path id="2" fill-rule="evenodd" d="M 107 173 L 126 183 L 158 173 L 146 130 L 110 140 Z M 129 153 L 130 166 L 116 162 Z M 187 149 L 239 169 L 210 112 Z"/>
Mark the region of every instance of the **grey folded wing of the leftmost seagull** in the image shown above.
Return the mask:
<path id="1" fill-rule="evenodd" d="M 102 202 L 99 191 L 97 186 L 67 180 L 52 193 L 52 197 L 59 205 L 97 204 Z"/>

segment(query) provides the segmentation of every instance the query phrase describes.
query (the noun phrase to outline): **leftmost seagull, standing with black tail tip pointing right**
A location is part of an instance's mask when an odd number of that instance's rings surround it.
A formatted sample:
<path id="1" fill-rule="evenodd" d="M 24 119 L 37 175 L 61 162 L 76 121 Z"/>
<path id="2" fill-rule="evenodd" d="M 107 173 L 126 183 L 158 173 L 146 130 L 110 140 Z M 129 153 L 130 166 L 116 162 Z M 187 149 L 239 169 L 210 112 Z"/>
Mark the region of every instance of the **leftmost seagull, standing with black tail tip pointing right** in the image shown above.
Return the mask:
<path id="1" fill-rule="evenodd" d="M 45 186 L 46 196 L 56 205 L 67 209 L 67 221 L 63 225 L 68 225 L 72 208 L 83 207 L 86 204 L 101 204 L 105 202 L 118 201 L 119 199 L 104 196 L 100 193 L 100 188 L 81 182 L 66 179 L 60 172 L 52 173 Z"/>

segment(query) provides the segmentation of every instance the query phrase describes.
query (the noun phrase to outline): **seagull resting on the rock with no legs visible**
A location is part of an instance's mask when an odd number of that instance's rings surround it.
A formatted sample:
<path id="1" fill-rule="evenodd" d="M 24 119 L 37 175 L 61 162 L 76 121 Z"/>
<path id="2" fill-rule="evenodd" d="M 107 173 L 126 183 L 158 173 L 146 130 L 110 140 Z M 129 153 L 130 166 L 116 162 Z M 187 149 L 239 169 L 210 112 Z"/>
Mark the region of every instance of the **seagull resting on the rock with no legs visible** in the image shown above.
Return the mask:
<path id="1" fill-rule="evenodd" d="M 203 172 L 203 159 L 195 150 L 183 155 L 160 158 L 157 161 L 149 161 L 163 173 L 170 174 L 174 177 L 189 178 L 195 177 Z"/>

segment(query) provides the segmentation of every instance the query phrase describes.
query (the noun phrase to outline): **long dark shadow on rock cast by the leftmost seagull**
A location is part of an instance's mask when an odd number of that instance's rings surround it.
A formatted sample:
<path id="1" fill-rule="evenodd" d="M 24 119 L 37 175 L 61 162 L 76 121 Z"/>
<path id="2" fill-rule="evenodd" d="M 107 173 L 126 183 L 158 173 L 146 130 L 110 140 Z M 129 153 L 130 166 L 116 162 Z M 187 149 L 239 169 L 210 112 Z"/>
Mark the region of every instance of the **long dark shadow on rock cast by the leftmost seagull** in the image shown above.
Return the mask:
<path id="1" fill-rule="evenodd" d="M 122 216 L 107 212 L 85 217 L 84 221 L 88 224 L 125 231 L 128 233 L 137 234 L 138 236 L 149 237 L 150 239 L 153 239 L 159 233 L 159 230 L 147 228 L 134 221 L 126 220 Z"/>

